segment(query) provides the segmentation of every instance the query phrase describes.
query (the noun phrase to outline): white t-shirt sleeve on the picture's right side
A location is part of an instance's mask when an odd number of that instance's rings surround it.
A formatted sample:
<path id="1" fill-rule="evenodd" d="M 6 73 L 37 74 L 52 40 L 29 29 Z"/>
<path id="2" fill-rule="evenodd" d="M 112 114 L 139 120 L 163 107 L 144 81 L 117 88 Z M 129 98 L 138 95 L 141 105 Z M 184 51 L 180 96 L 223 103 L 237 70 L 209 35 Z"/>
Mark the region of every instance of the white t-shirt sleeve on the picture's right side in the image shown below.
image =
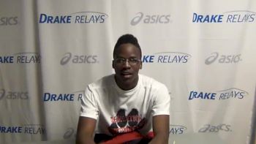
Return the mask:
<path id="1" fill-rule="evenodd" d="M 152 115 L 170 115 L 170 95 L 165 85 L 159 86 L 154 94 Z"/>

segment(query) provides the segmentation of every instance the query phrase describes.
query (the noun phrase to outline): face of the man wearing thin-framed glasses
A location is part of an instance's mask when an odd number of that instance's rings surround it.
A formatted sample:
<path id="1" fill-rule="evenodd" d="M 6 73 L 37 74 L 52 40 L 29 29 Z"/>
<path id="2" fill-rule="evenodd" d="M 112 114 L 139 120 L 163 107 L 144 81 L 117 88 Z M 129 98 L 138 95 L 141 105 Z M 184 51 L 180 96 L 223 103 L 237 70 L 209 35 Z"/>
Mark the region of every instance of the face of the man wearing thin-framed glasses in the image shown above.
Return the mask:
<path id="1" fill-rule="evenodd" d="M 120 88 L 124 90 L 134 88 L 138 83 L 139 69 L 142 68 L 140 50 L 130 43 L 120 45 L 116 50 L 112 67 L 115 69 L 116 83 Z"/>

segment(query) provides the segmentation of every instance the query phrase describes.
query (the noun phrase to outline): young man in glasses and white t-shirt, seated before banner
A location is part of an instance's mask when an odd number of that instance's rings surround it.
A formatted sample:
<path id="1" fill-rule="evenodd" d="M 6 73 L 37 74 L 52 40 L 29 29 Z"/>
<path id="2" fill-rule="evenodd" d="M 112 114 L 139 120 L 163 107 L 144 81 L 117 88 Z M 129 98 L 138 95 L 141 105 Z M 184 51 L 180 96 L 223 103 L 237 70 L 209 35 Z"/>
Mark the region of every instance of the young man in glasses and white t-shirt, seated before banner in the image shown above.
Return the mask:
<path id="1" fill-rule="evenodd" d="M 83 95 L 77 143 L 168 143 L 170 96 L 164 84 L 138 74 L 141 56 L 136 37 L 119 37 L 115 74 L 89 84 Z"/>

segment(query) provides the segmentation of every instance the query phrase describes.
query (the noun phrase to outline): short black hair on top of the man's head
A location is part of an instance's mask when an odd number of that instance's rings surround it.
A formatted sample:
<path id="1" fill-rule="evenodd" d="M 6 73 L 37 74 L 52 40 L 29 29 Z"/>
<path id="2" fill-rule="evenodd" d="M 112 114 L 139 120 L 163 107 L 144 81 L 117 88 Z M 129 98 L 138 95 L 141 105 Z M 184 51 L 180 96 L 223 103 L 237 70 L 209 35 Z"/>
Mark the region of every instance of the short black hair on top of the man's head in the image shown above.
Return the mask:
<path id="1" fill-rule="evenodd" d="M 130 43 L 132 45 L 135 45 L 136 48 L 140 50 L 140 58 L 141 58 L 141 49 L 140 45 L 138 43 L 138 39 L 134 37 L 132 34 L 124 34 L 121 37 L 118 38 L 116 45 L 113 50 L 113 58 L 116 56 L 116 50 L 120 47 L 120 45 Z"/>

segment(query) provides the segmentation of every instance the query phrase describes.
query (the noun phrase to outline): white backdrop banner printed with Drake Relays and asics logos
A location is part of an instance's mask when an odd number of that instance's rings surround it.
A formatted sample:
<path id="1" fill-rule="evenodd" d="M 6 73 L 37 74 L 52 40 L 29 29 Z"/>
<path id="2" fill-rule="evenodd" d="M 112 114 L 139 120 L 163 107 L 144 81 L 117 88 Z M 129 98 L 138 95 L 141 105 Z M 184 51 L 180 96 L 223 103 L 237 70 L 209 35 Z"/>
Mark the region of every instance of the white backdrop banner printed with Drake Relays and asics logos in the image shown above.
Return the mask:
<path id="1" fill-rule="evenodd" d="M 170 91 L 169 143 L 250 143 L 255 32 L 255 0 L 0 0 L 0 143 L 75 143 L 122 34 Z"/>

